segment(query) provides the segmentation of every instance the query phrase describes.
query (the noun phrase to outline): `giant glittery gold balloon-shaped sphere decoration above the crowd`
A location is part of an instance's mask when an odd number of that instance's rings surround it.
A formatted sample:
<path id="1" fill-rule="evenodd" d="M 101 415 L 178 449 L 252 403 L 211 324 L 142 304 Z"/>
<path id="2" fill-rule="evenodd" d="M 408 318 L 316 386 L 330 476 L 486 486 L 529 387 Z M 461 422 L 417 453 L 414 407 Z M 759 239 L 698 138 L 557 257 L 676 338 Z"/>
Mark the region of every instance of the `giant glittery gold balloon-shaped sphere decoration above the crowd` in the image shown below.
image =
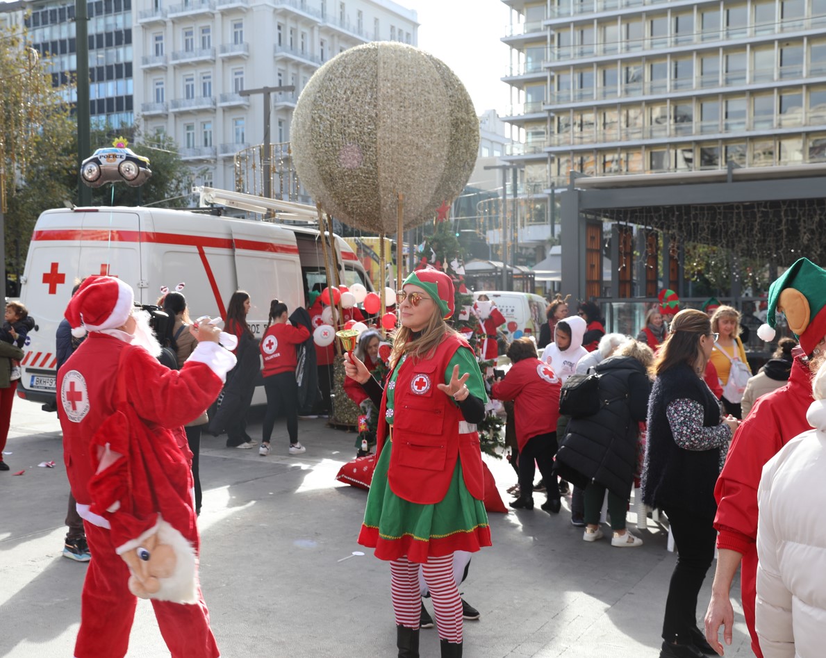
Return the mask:
<path id="1" fill-rule="evenodd" d="M 306 84 L 292 116 L 301 184 L 330 215 L 367 231 L 419 226 L 468 182 L 479 122 L 467 90 L 433 55 L 373 42 L 345 50 Z"/>

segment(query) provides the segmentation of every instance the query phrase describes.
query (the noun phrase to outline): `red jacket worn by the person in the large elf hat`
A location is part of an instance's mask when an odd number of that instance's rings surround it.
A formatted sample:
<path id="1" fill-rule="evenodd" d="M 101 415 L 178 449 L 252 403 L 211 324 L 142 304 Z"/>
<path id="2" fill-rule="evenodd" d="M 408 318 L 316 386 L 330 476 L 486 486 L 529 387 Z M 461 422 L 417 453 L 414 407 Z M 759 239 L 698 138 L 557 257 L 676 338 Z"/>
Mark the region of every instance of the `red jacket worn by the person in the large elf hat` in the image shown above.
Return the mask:
<path id="1" fill-rule="evenodd" d="M 809 367 L 800 356 L 795 357 L 789 383 L 759 398 L 734 433 L 729 455 L 714 487 L 717 547 L 743 554 L 740 588 L 752 649 L 757 647 L 754 631 L 757 485 L 767 461 L 792 438 L 811 429 L 806 421 L 806 412 L 812 403 L 811 378 Z"/>

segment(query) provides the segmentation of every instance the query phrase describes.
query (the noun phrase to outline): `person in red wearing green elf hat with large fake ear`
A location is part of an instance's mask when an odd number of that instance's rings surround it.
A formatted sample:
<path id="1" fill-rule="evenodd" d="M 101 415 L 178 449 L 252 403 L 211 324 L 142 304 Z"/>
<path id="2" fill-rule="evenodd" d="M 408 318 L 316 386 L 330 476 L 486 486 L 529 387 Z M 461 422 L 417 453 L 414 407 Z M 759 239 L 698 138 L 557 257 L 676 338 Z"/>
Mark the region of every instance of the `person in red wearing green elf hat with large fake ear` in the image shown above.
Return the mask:
<path id="1" fill-rule="evenodd" d="M 810 429 L 806 411 L 812 403 L 811 379 L 824 360 L 826 336 L 826 269 L 801 258 L 769 288 L 767 325 L 757 330 L 763 341 L 775 335 L 776 312 L 786 316 L 800 339 L 789 383 L 758 399 L 733 436 L 729 456 L 714 488 L 717 515 L 717 568 L 711 601 L 705 613 L 705 637 L 722 655 L 719 627 L 731 644 L 734 613 L 729 589 L 740 566 L 743 616 L 752 637 L 752 651 L 762 658 L 754 628 L 757 578 L 757 485 L 763 466 L 792 438 Z M 742 563 L 742 564 L 741 564 Z"/>

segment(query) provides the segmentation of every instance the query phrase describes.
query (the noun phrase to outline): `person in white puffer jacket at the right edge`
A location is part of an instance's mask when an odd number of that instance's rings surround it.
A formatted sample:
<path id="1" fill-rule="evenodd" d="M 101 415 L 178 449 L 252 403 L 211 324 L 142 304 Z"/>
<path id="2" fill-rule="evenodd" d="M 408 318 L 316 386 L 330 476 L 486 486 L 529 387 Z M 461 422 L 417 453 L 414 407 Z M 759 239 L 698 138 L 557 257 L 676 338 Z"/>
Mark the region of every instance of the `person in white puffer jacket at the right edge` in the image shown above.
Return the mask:
<path id="1" fill-rule="evenodd" d="M 814 427 L 763 467 L 757 502 L 757 636 L 763 658 L 826 655 L 826 362 L 812 383 Z"/>

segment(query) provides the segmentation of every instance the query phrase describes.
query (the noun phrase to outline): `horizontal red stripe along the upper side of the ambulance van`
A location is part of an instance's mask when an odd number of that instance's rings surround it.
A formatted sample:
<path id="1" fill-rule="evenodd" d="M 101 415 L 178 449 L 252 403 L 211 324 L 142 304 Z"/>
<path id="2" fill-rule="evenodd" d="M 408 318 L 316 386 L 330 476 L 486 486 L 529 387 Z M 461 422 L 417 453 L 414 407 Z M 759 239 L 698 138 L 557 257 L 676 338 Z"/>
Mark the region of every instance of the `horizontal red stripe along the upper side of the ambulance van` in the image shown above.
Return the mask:
<path id="1" fill-rule="evenodd" d="M 47 229 L 35 231 L 32 241 L 101 241 L 101 242 L 152 242 L 161 245 L 180 245 L 212 247 L 215 249 L 232 249 L 229 238 L 209 236 L 186 236 L 180 233 L 156 233 L 154 231 L 109 231 L 108 229 Z M 236 240 L 239 249 L 254 251 L 271 251 L 279 254 L 297 254 L 298 247 L 277 245 L 272 242 L 254 240 Z"/>

